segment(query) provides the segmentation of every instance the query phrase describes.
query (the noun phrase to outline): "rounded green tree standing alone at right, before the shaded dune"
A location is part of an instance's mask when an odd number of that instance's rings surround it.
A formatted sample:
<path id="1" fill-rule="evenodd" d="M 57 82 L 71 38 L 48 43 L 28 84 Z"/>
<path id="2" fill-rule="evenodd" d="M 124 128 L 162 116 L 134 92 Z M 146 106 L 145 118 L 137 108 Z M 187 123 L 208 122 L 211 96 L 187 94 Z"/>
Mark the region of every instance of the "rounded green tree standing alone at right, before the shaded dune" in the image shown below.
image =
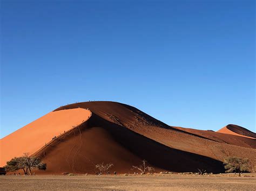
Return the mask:
<path id="1" fill-rule="evenodd" d="M 224 160 L 224 165 L 226 172 L 238 172 L 239 176 L 241 176 L 241 172 L 251 171 L 251 165 L 248 159 L 242 159 L 239 157 L 227 157 Z"/>

